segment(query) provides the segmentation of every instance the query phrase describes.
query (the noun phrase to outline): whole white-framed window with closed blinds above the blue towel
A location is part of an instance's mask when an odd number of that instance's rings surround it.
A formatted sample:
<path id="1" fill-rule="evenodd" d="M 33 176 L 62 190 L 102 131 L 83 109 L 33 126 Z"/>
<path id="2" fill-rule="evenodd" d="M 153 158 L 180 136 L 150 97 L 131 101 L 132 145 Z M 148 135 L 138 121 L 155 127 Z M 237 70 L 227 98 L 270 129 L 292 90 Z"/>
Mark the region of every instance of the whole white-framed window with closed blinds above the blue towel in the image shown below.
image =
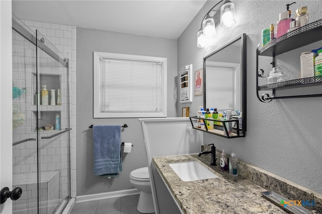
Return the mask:
<path id="1" fill-rule="evenodd" d="M 167 117 L 167 58 L 94 52 L 94 118 Z"/>

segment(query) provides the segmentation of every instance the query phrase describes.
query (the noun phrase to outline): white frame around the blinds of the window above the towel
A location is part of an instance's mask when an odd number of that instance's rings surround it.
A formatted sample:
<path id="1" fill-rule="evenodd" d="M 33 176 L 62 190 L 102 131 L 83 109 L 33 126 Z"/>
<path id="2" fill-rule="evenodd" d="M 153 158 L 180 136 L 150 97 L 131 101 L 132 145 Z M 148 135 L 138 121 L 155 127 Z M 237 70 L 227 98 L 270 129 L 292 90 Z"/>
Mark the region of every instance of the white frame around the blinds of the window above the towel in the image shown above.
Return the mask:
<path id="1" fill-rule="evenodd" d="M 120 60 L 139 60 L 139 61 L 152 61 L 160 62 L 163 64 L 162 71 L 162 83 L 161 83 L 161 97 L 160 97 L 160 112 L 158 113 L 137 113 L 137 112 L 100 112 L 100 58 L 111 58 Z M 130 54 L 118 54 L 118 53 L 105 53 L 105 52 L 93 52 L 94 63 L 94 81 L 93 81 L 93 117 L 94 118 L 165 118 L 167 117 L 167 58 L 130 55 Z"/>

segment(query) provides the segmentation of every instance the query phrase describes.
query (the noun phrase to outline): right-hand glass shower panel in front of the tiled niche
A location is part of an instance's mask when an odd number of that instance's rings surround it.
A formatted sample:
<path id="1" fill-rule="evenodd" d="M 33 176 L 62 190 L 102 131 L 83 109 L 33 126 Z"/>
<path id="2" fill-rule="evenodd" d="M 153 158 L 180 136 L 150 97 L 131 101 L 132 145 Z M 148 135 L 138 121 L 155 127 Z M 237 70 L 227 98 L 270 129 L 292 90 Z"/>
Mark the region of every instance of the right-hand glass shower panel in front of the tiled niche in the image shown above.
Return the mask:
<path id="1" fill-rule="evenodd" d="M 38 30 L 37 73 L 39 213 L 59 213 L 70 198 L 69 70 L 67 58 Z"/>

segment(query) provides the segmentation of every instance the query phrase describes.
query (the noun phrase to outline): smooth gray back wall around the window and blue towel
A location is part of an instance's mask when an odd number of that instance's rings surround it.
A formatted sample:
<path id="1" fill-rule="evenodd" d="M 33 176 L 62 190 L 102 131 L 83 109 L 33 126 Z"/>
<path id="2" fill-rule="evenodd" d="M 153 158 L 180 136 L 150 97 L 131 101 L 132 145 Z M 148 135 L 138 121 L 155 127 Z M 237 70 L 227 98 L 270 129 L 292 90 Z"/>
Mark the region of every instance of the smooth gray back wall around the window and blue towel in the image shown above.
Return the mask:
<path id="1" fill-rule="evenodd" d="M 177 40 L 77 28 L 76 40 L 76 173 L 77 195 L 95 194 L 133 188 L 129 182 L 132 170 L 147 166 L 143 134 L 135 118 L 93 119 L 93 52 L 110 52 L 168 58 L 168 117 L 177 117 L 176 86 Z M 126 108 L 126 106 L 124 106 Z M 181 113 L 180 113 L 181 116 Z M 123 154 L 123 171 L 108 179 L 94 176 L 93 135 L 90 125 L 123 125 L 123 142 L 133 143 L 131 153 Z"/>

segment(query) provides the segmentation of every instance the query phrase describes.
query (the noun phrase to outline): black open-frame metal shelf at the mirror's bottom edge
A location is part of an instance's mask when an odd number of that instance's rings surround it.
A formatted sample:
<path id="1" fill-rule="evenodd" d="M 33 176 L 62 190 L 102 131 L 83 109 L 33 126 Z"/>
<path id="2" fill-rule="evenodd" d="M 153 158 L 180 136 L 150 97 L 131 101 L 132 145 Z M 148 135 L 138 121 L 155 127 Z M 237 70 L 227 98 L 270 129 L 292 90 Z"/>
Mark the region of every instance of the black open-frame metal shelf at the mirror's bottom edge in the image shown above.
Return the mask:
<path id="1" fill-rule="evenodd" d="M 239 129 L 238 119 L 232 119 L 232 120 L 226 120 L 226 121 L 214 120 L 210 118 L 198 118 L 198 117 L 189 117 L 189 119 L 190 119 L 192 128 L 202 132 L 206 132 L 206 133 L 217 135 L 224 138 L 245 137 L 245 135 L 243 134 L 243 131 Z M 214 129 L 208 129 L 207 126 L 205 126 L 205 128 L 198 128 L 195 126 L 192 119 L 197 119 L 197 120 L 201 119 L 203 120 L 204 124 L 206 124 L 206 121 L 213 121 L 213 122 L 220 122 L 222 125 L 214 124 Z M 232 133 L 230 134 L 228 134 L 227 128 L 226 126 L 224 126 L 226 123 L 236 123 L 236 126 L 235 126 L 236 128 L 232 128 Z"/>

